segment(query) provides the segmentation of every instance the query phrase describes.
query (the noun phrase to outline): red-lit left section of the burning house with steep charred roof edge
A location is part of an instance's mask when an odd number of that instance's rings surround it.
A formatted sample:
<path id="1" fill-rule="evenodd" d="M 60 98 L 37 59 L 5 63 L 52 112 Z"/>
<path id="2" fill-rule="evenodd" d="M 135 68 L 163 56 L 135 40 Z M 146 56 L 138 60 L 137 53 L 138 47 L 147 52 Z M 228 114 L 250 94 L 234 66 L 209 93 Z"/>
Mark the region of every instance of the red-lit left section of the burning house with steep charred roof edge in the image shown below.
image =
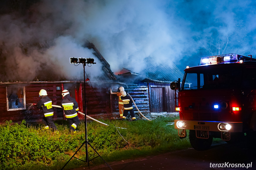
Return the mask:
<path id="1" fill-rule="evenodd" d="M 93 54 L 100 60 L 104 74 L 98 78 L 97 82 L 85 82 L 86 94 L 84 94 L 84 81 L 44 81 L 37 79 L 30 82 L 0 82 L 0 123 L 7 120 L 18 123 L 22 120 L 26 120 L 28 123 L 44 121 L 41 109 L 36 108 L 36 106 L 29 107 L 31 103 L 37 103 L 40 100 L 39 91 L 41 89 L 47 91 L 53 105 L 61 105 L 61 92 L 66 89 L 76 99 L 79 104 L 79 111 L 82 113 L 86 112 L 86 114 L 96 118 L 113 117 L 112 114 L 108 115 L 111 113 L 109 92 L 117 78 L 96 47 L 92 43 L 87 43 L 87 47 L 94 50 Z M 94 87 L 93 84 L 97 84 L 97 86 Z M 65 119 L 62 108 L 55 107 L 54 109 L 54 120 Z M 84 119 L 84 116 L 79 114 L 79 118 Z"/>

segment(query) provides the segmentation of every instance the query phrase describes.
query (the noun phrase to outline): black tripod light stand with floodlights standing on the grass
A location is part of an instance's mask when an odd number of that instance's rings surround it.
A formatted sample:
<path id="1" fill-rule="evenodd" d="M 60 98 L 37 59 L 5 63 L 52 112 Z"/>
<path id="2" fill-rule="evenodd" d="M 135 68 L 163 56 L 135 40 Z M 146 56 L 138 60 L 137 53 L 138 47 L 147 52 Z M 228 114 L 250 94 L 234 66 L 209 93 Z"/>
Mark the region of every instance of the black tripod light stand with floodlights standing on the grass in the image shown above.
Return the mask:
<path id="1" fill-rule="evenodd" d="M 86 61 L 87 60 L 87 61 Z M 76 158 L 74 157 L 75 154 L 77 154 L 77 152 L 82 148 L 83 145 L 85 145 L 85 150 L 86 150 L 86 155 L 85 155 L 85 161 L 84 160 L 81 160 L 79 158 L 80 161 L 83 161 L 83 162 L 86 162 L 88 163 L 88 166 L 89 166 L 89 162 L 92 161 L 93 159 L 97 158 L 97 157 L 100 157 L 105 163 L 106 165 L 112 169 L 109 164 L 100 156 L 100 154 L 92 147 L 92 145 L 88 142 L 88 139 L 87 139 L 87 120 L 86 120 L 86 101 L 85 101 L 85 65 L 86 64 L 96 64 L 94 63 L 94 59 L 85 59 L 85 58 L 79 58 L 79 60 L 77 60 L 77 58 L 70 58 L 70 63 L 71 64 L 83 64 L 83 68 L 84 68 L 84 105 L 85 105 L 85 141 L 83 142 L 83 144 L 79 147 L 79 149 L 74 153 L 74 155 L 69 159 L 69 161 L 72 159 L 72 158 Z M 90 145 L 90 147 L 98 154 L 98 156 L 96 156 L 95 158 L 89 160 L 89 157 L 88 157 L 88 145 Z M 69 161 L 62 167 L 62 169 L 69 163 Z M 62 170 L 61 169 L 61 170 Z M 112 169 L 113 170 L 113 169 Z"/>

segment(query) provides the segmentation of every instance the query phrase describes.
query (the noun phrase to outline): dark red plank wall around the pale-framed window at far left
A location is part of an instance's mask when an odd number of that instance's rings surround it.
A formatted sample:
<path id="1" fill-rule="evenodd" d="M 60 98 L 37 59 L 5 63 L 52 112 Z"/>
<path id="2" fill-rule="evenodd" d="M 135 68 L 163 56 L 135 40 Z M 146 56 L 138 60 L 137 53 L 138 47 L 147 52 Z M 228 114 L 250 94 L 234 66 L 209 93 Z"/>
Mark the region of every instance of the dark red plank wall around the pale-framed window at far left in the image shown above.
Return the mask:
<path id="1" fill-rule="evenodd" d="M 26 110 L 7 111 L 6 86 L 10 85 L 0 85 L 0 123 L 7 120 L 17 123 L 20 123 L 22 120 L 26 120 L 28 123 L 41 122 L 43 120 L 44 115 L 42 109 L 38 109 L 36 106 L 30 109 L 26 107 Z M 15 85 L 12 84 L 12 86 Z M 18 84 L 17 86 L 25 86 L 26 104 L 37 103 L 40 100 L 39 91 L 45 89 L 48 96 L 52 99 L 53 104 L 60 105 L 60 100 L 62 99 L 61 90 L 56 90 L 56 87 L 61 87 L 61 84 Z M 63 119 L 63 109 L 54 108 L 54 112 L 55 120 Z"/>

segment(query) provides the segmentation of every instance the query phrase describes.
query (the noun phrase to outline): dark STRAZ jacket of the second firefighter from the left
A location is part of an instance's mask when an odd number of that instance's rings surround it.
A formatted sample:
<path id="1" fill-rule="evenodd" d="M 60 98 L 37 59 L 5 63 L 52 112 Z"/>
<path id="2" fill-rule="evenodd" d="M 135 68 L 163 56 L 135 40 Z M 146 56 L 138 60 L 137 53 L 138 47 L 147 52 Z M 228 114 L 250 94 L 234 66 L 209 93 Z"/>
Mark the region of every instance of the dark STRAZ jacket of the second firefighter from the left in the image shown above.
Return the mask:
<path id="1" fill-rule="evenodd" d="M 61 100 L 61 105 L 64 109 L 65 117 L 67 119 L 73 119 L 77 116 L 77 111 L 79 110 L 78 103 L 69 94 L 65 95 Z"/>

